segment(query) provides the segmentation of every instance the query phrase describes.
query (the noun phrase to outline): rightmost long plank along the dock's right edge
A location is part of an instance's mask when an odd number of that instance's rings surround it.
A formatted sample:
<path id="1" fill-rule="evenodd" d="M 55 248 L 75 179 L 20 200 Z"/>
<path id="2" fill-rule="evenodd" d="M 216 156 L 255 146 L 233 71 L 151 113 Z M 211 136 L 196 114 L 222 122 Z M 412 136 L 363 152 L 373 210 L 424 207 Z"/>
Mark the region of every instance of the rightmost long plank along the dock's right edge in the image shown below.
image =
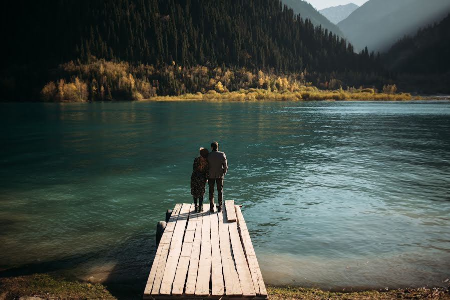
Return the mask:
<path id="1" fill-rule="evenodd" d="M 258 295 L 267 296 L 266 286 L 262 278 L 258 260 L 256 259 L 253 243 L 250 239 L 250 233 L 248 232 L 247 224 L 245 223 L 244 216 L 242 215 L 242 211 L 239 205 L 235 205 L 235 210 L 237 222 L 239 225 L 239 234 L 241 236 L 242 245 L 244 247 L 244 252 L 248 262 L 248 267 L 252 276 L 253 286 L 255 287 L 255 292 Z"/>

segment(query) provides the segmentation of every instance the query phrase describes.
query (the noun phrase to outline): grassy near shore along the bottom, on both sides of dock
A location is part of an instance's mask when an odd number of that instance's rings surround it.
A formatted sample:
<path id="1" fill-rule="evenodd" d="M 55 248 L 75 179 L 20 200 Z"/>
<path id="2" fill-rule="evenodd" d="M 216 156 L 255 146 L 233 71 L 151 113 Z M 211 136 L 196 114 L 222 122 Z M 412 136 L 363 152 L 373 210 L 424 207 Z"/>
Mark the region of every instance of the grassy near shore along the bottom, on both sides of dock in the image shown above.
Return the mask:
<path id="1" fill-rule="evenodd" d="M 450 299 L 448 289 L 411 288 L 393 290 L 369 290 L 356 292 L 331 292 L 316 288 L 268 286 L 270 299 Z M 44 299 L 136 299 L 130 292 L 114 296 L 107 285 L 100 283 L 56 279 L 46 274 L 0 278 L 0 300 L 35 296 Z"/>

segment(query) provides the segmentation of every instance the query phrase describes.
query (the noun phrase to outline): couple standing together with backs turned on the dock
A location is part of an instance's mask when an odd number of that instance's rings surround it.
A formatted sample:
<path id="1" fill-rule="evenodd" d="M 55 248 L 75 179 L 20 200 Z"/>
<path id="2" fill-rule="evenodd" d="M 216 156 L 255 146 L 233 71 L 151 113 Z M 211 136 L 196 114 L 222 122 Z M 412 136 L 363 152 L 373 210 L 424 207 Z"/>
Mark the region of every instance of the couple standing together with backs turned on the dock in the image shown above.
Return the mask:
<path id="1" fill-rule="evenodd" d="M 203 211 L 205 184 L 209 186 L 209 210 L 214 212 L 214 185 L 217 185 L 217 210 L 222 211 L 223 176 L 227 173 L 227 156 L 219 151 L 219 143 L 211 143 L 211 152 L 201 147 L 200 155 L 195 157 L 191 175 L 191 194 L 194 198 L 195 211 Z M 198 200 L 198 204 L 197 204 Z"/>

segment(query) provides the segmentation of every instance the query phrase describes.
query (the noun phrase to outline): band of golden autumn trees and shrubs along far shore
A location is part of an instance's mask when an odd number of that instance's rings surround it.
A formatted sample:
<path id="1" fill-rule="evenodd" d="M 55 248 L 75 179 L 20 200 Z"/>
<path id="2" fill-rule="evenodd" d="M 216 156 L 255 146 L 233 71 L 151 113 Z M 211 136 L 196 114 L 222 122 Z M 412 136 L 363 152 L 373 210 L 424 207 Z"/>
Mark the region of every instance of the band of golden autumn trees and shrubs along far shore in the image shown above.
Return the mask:
<path id="1" fill-rule="evenodd" d="M 383 86 L 345 86 L 334 78 L 300 70 L 275 73 L 273 70 L 201 65 L 133 65 L 90 56 L 86 61 L 69 61 L 58 68 L 59 78 L 41 90 L 44 101 L 95 101 L 141 99 L 191 100 L 405 100 L 395 84 Z M 312 81 L 316 86 L 312 86 Z M 337 88 L 339 87 L 339 88 Z"/>

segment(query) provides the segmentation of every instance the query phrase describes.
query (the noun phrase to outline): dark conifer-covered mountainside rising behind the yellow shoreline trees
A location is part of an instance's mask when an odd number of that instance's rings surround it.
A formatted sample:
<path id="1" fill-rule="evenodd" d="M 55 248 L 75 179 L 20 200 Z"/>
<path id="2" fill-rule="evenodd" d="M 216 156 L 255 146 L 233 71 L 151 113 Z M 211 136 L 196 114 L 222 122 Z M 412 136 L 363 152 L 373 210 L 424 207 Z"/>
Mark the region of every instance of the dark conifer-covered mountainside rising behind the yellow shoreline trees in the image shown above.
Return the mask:
<path id="1" fill-rule="evenodd" d="M 140 76 L 158 94 L 199 91 L 200 82 L 214 77 L 217 67 L 298 75 L 307 70 L 305 79 L 317 84 L 319 77 L 326 81 L 339 72 L 349 78 L 345 82 L 342 77 L 343 84 L 355 84 L 367 78 L 365 73 L 374 77 L 380 70 L 373 53 L 354 53 L 345 39 L 314 26 L 279 0 L 10 1 L 2 14 L 8 42 L 1 83 L 4 94 L 13 98 L 36 96 L 49 79 L 77 74 L 92 83 L 93 92 L 121 88 L 126 78 L 118 77 L 116 84 L 102 77 L 105 65 L 96 64 L 100 71 L 83 68 L 92 55 L 143 65 L 133 68 L 138 73 L 132 77 Z M 70 60 L 77 67 L 56 68 Z M 205 67 L 201 78 L 191 71 L 197 65 Z M 135 79 L 126 80 L 134 86 Z M 230 82 L 229 89 L 239 88 Z M 34 89 L 27 93 L 30 86 Z"/>

